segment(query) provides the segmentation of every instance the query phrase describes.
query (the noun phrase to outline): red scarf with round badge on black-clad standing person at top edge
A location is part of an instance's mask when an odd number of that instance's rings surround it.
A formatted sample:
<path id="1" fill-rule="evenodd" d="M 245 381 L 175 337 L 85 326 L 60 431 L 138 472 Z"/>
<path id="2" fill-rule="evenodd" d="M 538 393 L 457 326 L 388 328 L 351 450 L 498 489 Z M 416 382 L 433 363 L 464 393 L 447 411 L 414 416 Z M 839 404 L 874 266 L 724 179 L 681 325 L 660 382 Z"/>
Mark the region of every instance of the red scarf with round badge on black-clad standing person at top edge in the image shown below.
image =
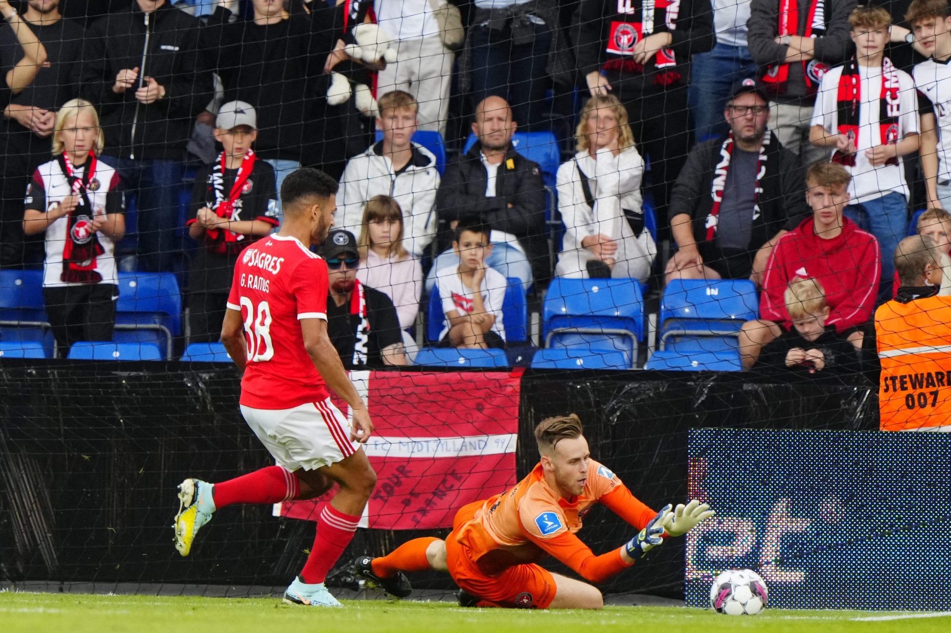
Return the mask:
<path id="1" fill-rule="evenodd" d="M 631 7 L 633 0 L 618 0 L 618 12 L 634 12 Z M 623 10 L 622 10 L 623 8 Z M 677 17 L 680 14 L 680 0 L 643 0 L 641 3 L 641 21 L 626 22 L 614 20 L 611 22 L 611 35 L 608 40 L 607 51 L 615 55 L 632 55 L 634 46 L 654 32 L 654 14 L 656 10 L 664 10 L 664 26 L 668 31 L 677 29 Z M 653 83 L 657 86 L 670 86 L 681 80 L 683 75 L 672 68 L 677 66 L 677 59 L 673 49 L 661 48 L 654 55 L 654 67 L 657 73 Z M 604 65 L 606 70 L 628 72 L 644 72 L 643 64 L 636 64 L 628 59 L 612 59 Z"/>

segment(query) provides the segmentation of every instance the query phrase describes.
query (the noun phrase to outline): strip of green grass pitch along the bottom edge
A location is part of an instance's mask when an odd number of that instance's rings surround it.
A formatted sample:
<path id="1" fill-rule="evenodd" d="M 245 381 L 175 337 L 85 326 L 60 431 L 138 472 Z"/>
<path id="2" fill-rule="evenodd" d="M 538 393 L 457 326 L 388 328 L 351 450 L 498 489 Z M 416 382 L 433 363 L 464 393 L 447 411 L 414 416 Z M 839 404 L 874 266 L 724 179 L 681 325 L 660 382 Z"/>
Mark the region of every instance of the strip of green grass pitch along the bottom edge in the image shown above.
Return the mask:
<path id="1" fill-rule="evenodd" d="M 278 599 L 0 593 L 4 633 L 562 633 L 663 630 L 821 631 L 951 630 L 951 613 L 767 610 L 729 617 L 700 609 L 609 606 L 602 611 L 462 609 L 454 604 L 348 601 L 346 608 L 282 604 Z"/>

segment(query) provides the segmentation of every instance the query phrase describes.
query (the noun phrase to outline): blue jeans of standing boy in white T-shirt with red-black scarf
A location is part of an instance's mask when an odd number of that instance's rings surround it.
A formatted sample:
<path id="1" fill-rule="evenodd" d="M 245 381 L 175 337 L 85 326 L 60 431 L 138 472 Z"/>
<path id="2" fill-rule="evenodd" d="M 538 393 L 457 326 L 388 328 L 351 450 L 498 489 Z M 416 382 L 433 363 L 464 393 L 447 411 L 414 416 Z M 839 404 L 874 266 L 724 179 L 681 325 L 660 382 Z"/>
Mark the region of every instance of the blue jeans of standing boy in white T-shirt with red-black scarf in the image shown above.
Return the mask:
<path id="1" fill-rule="evenodd" d="M 879 240 L 882 254 L 882 281 L 876 305 L 890 301 L 892 282 L 895 280 L 895 249 L 908 231 L 908 201 L 900 193 L 892 192 L 862 204 L 849 204 L 844 216 L 855 222 Z"/>

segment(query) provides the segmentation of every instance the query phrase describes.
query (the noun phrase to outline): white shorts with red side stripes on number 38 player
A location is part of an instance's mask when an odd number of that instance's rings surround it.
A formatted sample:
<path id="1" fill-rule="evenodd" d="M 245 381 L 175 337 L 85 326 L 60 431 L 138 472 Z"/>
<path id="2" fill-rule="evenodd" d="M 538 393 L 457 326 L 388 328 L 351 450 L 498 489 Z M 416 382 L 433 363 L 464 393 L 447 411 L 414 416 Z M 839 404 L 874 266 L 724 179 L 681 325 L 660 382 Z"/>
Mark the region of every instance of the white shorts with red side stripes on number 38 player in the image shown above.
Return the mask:
<path id="1" fill-rule="evenodd" d="M 251 431 L 287 470 L 316 470 L 357 452 L 350 440 L 350 422 L 327 398 L 293 409 L 252 409 L 241 406 Z"/>

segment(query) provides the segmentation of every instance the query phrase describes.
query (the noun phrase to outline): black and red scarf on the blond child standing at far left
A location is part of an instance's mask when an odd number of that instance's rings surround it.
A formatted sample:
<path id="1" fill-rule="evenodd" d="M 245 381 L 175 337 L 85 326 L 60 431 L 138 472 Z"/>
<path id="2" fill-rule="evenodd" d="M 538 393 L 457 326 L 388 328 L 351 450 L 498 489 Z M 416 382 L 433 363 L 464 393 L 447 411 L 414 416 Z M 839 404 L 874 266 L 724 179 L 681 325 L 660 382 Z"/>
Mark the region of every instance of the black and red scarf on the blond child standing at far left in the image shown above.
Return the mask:
<path id="1" fill-rule="evenodd" d="M 82 178 L 76 176 L 76 170 L 66 152 L 57 156 L 56 161 L 69 183 L 70 194 L 79 198 L 68 217 L 60 280 L 67 283 L 99 283 L 103 276 L 96 272 L 96 258 L 103 255 L 106 249 L 92 230 L 94 209 L 88 196 L 89 191 L 96 191 L 100 187 L 99 181 L 96 180 L 96 155 L 89 152 Z"/>

